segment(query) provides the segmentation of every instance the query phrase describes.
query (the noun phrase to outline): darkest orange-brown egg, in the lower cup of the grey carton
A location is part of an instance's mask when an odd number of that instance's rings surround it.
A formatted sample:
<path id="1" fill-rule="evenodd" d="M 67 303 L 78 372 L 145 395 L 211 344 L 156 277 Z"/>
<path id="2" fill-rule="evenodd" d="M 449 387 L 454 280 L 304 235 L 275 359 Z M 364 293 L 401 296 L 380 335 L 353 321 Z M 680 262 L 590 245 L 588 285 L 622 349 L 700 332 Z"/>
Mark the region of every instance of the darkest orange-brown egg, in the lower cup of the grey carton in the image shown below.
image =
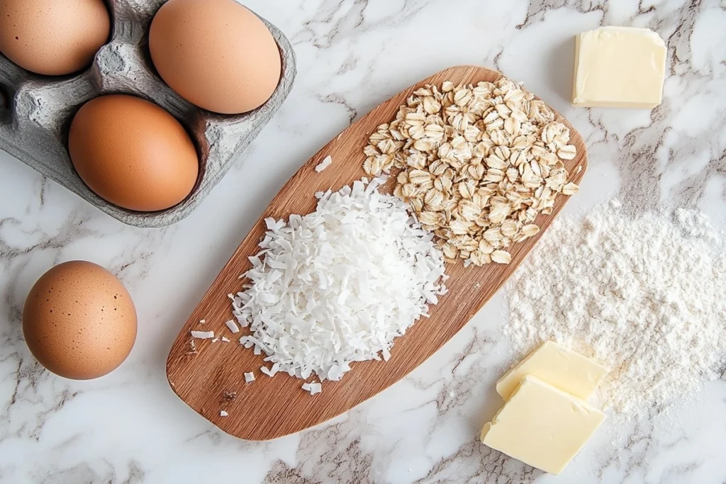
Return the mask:
<path id="1" fill-rule="evenodd" d="M 197 151 L 179 121 L 152 102 L 123 94 L 83 104 L 70 124 L 68 151 L 91 190 L 129 210 L 173 207 L 199 174 Z"/>

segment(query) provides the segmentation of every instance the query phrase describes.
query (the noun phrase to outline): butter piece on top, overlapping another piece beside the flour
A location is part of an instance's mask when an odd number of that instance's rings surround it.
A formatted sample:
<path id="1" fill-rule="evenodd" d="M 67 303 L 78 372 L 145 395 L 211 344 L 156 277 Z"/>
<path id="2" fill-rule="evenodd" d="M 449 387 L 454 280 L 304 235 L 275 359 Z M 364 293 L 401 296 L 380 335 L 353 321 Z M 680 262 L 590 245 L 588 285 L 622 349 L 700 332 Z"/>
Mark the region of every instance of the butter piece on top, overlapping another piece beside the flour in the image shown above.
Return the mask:
<path id="1" fill-rule="evenodd" d="M 537 377 L 526 376 L 484 424 L 481 441 L 550 474 L 559 474 L 590 440 L 605 414 Z"/>

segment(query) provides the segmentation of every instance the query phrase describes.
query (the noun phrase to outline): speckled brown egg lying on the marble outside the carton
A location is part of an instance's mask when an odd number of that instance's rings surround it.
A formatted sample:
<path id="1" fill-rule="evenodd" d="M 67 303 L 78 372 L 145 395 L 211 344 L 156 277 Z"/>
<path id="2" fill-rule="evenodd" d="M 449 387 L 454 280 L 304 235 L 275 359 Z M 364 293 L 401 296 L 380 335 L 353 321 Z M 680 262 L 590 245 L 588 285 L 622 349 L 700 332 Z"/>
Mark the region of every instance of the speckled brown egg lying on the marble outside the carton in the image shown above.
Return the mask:
<path id="1" fill-rule="evenodd" d="M 121 281 L 83 261 L 47 271 L 23 310 L 30 353 L 61 377 L 89 380 L 117 368 L 136 340 L 136 308 Z"/>

